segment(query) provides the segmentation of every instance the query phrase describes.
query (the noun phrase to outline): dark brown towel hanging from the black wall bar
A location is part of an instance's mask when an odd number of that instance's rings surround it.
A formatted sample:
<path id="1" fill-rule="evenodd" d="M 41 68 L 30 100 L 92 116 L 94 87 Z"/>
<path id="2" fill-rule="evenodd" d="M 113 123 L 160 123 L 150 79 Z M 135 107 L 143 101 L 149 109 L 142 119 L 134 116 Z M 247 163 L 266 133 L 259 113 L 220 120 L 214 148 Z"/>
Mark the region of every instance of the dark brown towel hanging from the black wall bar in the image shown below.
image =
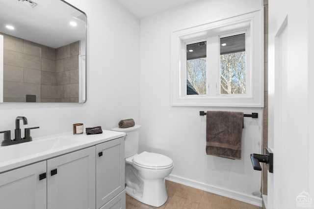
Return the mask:
<path id="1" fill-rule="evenodd" d="M 207 111 L 206 154 L 241 159 L 243 112 Z"/>

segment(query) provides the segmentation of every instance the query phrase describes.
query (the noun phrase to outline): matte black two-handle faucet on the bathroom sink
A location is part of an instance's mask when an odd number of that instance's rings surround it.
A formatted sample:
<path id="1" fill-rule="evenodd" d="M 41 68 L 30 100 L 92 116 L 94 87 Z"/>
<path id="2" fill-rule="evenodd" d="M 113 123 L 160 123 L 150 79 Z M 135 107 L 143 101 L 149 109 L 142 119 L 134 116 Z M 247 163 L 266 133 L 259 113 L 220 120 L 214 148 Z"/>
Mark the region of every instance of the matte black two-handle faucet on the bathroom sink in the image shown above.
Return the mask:
<path id="1" fill-rule="evenodd" d="M 27 118 L 18 116 L 15 119 L 15 138 L 11 140 L 11 131 L 0 131 L 0 133 L 4 133 L 4 139 L 1 142 L 1 146 L 7 146 L 12 144 L 19 144 L 27 141 L 32 141 L 32 137 L 30 136 L 31 129 L 38 129 L 39 127 L 32 127 L 25 129 L 24 138 L 21 137 L 21 128 L 20 128 L 20 120 L 23 120 L 23 124 L 27 124 Z"/>

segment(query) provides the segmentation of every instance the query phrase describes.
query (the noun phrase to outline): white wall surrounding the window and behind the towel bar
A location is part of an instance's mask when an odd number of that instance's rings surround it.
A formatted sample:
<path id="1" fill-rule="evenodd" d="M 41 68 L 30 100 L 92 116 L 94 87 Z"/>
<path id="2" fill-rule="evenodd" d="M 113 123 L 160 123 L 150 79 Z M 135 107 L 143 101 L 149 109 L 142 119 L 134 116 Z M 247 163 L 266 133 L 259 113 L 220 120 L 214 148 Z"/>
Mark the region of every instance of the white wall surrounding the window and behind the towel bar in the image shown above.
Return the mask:
<path id="1" fill-rule="evenodd" d="M 171 32 L 261 9 L 262 0 L 203 0 L 141 20 L 142 123 L 140 150 L 171 157 L 175 168 L 169 179 L 238 200 L 261 205 L 252 195 L 261 189 L 261 172 L 253 170 L 251 153 L 261 153 L 262 108 L 171 106 Z M 200 110 L 258 112 L 245 118 L 242 159 L 207 156 L 206 117 Z"/>

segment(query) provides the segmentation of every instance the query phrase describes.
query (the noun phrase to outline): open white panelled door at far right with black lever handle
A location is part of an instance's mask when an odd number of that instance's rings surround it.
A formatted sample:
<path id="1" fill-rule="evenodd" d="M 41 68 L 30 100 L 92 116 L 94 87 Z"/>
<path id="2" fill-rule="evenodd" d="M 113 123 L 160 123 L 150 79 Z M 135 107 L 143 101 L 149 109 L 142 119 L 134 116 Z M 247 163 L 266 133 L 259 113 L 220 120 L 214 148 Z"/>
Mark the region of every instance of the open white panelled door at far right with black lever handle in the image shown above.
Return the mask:
<path id="1" fill-rule="evenodd" d="M 314 119 L 310 117 L 314 3 L 268 3 L 268 147 L 274 153 L 274 169 L 268 173 L 267 209 L 314 208 Z"/>

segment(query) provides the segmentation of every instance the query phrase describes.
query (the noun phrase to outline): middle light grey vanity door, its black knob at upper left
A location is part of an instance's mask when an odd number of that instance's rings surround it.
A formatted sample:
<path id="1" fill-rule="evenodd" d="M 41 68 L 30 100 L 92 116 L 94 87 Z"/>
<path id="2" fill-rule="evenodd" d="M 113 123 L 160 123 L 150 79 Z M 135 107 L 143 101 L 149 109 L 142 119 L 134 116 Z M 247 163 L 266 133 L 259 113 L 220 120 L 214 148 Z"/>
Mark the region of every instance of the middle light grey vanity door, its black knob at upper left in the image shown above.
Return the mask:
<path id="1" fill-rule="evenodd" d="M 95 209 L 95 146 L 47 160 L 48 209 Z"/>

